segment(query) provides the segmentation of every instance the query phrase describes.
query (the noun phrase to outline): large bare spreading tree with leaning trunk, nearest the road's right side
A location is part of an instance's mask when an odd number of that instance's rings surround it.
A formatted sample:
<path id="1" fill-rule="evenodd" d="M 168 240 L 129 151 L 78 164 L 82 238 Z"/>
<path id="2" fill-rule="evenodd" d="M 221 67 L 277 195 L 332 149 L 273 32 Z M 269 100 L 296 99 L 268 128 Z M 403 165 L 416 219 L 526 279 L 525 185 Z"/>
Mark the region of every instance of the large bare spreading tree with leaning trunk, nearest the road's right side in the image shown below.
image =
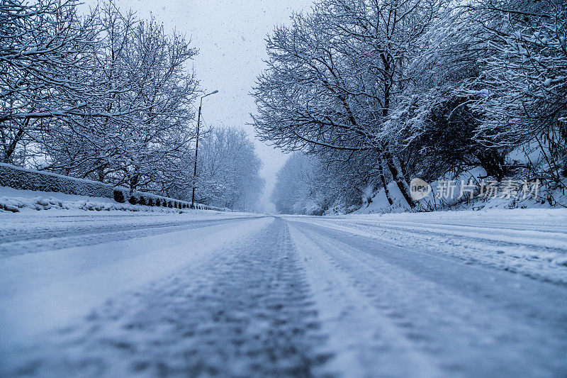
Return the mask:
<path id="1" fill-rule="evenodd" d="M 254 91 L 259 135 L 287 150 L 370 152 L 411 206 L 404 164 L 381 126 L 407 84 L 412 44 L 442 6 L 325 0 L 293 16 L 267 41 L 269 67 Z"/>

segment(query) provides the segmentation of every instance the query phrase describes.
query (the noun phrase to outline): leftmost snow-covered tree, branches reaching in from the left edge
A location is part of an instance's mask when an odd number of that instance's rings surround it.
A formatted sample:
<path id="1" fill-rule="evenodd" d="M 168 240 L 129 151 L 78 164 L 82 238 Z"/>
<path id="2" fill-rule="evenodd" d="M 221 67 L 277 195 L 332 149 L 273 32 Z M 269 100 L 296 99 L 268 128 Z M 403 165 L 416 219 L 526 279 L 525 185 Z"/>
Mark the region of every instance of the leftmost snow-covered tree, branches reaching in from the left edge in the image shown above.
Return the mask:
<path id="1" fill-rule="evenodd" d="M 23 162 L 26 145 L 50 121 L 102 111 L 89 85 L 96 33 L 75 0 L 1 2 L 1 161 Z"/>

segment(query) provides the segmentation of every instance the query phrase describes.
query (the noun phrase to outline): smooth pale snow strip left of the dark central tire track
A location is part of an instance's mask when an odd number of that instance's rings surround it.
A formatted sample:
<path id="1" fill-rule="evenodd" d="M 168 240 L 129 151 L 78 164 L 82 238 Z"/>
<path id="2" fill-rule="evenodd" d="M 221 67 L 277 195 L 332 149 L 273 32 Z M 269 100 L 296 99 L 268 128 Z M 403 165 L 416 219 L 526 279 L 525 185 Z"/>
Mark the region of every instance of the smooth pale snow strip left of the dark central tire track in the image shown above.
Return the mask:
<path id="1" fill-rule="evenodd" d="M 87 245 L 0 260 L 0 347 L 64 326 L 121 291 L 195 264 L 269 221 L 261 218 L 101 243 L 96 252 Z"/>

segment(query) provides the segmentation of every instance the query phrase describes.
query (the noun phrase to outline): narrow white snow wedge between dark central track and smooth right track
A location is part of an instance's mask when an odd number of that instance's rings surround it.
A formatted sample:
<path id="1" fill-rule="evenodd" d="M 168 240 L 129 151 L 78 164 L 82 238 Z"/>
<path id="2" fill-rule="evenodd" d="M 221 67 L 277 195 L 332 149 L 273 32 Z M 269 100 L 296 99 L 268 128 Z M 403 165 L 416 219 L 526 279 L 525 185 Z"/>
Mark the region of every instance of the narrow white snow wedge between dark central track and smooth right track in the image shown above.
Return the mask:
<path id="1" fill-rule="evenodd" d="M 345 377 L 439 377 L 434 362 L 352 284 L 356 271 L 345 271 L 322 250 L 317 235 L 290 228 L 315 293 L 322 330 L 330 335 L 335 354 L 330 372 Z"/>

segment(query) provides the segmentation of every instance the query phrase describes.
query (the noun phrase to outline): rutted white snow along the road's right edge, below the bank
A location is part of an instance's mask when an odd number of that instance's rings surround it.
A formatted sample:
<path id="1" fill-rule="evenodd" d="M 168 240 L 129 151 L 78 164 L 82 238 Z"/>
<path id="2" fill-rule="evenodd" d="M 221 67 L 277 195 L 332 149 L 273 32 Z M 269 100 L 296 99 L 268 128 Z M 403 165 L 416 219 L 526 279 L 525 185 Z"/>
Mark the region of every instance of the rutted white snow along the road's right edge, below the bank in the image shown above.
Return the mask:
<path id="1" fill-rule="evenodd" d="M 327 228 L 458 257 L 567 284 L 567 209 L 490 209 L 430 213 L 290 217 Z"/>

